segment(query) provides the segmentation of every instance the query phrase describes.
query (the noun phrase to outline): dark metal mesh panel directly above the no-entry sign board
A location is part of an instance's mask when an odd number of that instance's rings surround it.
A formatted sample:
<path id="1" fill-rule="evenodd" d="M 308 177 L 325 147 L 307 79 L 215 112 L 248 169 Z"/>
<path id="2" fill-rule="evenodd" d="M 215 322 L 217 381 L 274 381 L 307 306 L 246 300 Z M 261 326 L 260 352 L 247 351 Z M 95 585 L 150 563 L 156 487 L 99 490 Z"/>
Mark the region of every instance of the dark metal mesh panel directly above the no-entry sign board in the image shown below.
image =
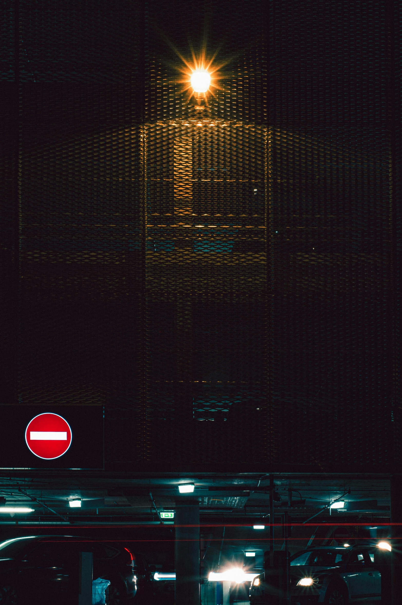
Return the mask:
<path id="1" fill-rule="evenodd" d="M 20 7 L 19 401 L 104 405 L 106 455 L 126 460 L 141 408 L 140 8 Z"/>

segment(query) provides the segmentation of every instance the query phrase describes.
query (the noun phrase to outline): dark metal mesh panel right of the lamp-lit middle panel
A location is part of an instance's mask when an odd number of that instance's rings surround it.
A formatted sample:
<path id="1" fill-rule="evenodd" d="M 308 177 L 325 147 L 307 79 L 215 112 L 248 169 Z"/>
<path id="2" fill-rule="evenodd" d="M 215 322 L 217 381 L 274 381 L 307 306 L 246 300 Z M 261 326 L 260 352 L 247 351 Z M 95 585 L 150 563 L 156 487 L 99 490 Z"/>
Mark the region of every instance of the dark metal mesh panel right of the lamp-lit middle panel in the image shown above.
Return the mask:
<path id="1" fill-rule="evenodd" d="M 276 3 L 270 49 L 271 384 L 282 456 L 317 468 L 388 462 L 385 4 Z"/>

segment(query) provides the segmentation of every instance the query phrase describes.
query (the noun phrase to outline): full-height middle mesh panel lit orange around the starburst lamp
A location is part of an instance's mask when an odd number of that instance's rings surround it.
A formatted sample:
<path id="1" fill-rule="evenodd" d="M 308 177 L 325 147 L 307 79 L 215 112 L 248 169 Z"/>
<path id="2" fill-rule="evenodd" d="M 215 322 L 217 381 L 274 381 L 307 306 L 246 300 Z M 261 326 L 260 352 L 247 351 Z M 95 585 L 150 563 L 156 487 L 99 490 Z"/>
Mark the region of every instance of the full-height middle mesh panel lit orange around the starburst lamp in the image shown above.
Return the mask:
<path id="1" fill-rule="evenodd" d="M 150 459 L 267 459 L 267 106 L 261 2 L 150 6 L 144 167 Z M 158 29 L 152 27 L 158 24 Z M 207 37 L 218 89 L 183 91 Z M 169 45 L 166 44 L 169 42 Z M 170 50 L 174 47 L 177 55 Z M 247 443 L 247 446 L 245 446 Z"/>

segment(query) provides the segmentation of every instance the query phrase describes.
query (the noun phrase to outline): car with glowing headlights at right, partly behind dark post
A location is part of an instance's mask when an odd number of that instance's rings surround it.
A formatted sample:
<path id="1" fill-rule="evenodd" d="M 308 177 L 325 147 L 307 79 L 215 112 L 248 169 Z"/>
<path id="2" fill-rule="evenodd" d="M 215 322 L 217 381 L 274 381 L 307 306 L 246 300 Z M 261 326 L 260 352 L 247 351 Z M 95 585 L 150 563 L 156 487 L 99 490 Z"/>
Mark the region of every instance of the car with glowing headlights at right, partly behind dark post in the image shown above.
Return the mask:
<path id="1" fill-rule="evenodd" d="M 381 601 L 383 564 L 384 552 L 377 545 L 326 546 L 297 552 L 290 559 L 291 603 L 346 605 Z M 251 583 L 251 604 L 274 601 L 277 590 L 264 578 L 265 574 L 261 574 Z"/>

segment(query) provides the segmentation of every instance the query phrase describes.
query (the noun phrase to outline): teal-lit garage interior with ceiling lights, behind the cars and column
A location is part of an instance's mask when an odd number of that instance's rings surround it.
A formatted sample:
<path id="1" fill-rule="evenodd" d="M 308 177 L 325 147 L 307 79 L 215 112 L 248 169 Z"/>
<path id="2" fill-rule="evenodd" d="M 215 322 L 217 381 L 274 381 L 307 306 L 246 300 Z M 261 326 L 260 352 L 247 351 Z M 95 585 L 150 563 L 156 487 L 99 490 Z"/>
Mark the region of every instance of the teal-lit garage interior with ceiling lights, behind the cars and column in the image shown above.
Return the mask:
<path id="1" fill-rule="evenodd" d="M 391 544 L 390 489 L 388 477 L 360 475 L 87 474 L 72 483 L 24 474 L 2 477 L 0 506 L 30 512 L 5 512 L 0 531 L 2 541 L 68 535 L 84 551 L 94 543 L 126 548 L 146 561 L 155 603 L 173 603 L 182 532 L 191 528 L 201 601 L 219 603 L 222 584 L 222 602 L 248 603 L 250 578 L 264 573 L 270 551 Z M 195 511 L 184 527 L 183 505 Z M 239 572 L 249 576 L 236 581 Z"/>

